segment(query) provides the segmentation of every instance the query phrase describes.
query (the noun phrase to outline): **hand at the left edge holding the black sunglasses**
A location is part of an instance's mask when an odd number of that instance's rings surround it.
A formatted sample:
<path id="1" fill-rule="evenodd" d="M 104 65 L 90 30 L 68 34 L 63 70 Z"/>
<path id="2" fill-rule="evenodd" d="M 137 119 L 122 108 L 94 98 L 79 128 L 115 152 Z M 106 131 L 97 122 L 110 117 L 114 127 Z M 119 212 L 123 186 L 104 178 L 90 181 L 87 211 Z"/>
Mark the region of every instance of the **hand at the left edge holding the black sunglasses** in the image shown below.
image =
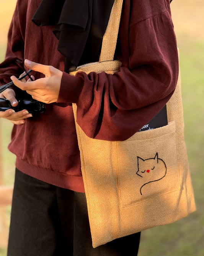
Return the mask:
<path id="1" fill-rule="evenodd" d="M 23 80 L 22 80 L 23 81 Z M 18 101 L 15 98 L 15 91 L 11 88 L 6 89 L 0 93 L 0 98 L 6 98 L 10 100 L 12 106 L 17 106 Z M 22 110 L 15 112 L 13 109 L 8 109 L 6 111 L 0 111 L 0 117 L 10 120 L 11 123 L 15 125 L 22 125 L 25 123 L 25 119 L 31 117 L 27 110 Z"/>

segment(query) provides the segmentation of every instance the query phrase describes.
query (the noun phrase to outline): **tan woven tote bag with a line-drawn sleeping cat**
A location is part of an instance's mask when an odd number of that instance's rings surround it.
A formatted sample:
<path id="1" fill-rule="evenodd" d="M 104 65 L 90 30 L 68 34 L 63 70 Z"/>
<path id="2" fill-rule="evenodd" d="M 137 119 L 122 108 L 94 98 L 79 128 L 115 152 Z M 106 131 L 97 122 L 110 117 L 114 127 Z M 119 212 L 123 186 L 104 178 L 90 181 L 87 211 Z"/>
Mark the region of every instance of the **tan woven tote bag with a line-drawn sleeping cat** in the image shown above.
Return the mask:
<path id="1" fill-rule="evenodd" d="M 111 14 L 119 15 L 121 5 L 122 0 L 115 0 Z M 106 40 L 106 52 L 108 47 Z M 112 61 L 108 55 L 107 62 L 89 63 L 77 71 L 113 74 L 121 66 L 113 61 L 113 55 Z M 184 143 L 180 74 L 166 106 L 168 125 L 137 132 L 126 141 L 104 141 L 85 135 L 77 124 L 77 105 L 73 104 L 94 248 L 173 223 L 195 211 Z"/>

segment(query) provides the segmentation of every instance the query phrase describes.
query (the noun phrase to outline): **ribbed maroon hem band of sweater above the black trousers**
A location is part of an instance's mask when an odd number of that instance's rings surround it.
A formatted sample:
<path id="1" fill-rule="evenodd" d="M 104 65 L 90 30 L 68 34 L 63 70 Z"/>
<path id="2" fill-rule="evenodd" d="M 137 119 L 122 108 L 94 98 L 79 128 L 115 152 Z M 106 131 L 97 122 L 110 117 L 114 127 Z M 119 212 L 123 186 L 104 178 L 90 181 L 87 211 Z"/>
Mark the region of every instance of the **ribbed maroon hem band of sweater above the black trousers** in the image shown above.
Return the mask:
<path id="1" fill-rule="evenodd" d="M 16 158 L 16 168 L 23 173 L 54 186 L 85 193 L 82 176 L 72 176 L 57 171 L 42 169 Z"/>

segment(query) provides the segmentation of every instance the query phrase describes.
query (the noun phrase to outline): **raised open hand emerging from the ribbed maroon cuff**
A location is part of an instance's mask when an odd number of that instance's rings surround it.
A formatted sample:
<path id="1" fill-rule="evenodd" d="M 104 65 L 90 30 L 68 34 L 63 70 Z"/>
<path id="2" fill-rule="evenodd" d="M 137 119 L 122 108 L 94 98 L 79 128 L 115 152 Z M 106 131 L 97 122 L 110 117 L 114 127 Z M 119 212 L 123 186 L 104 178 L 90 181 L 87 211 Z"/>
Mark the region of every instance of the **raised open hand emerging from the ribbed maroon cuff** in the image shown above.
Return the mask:
<path id="1" fill-rule="evenodd" d="M 43 73 L 45 77 L 24 83 L 15 76 L 11 76 L 13 83 L 21 90 L 26 90 L 34 100 L 44 103 L 56 102 L 60 91 L 62 71 L 53 66 L 42 65 L 29 60 L 25 60 L 25 65 L 34 71 Z"/>

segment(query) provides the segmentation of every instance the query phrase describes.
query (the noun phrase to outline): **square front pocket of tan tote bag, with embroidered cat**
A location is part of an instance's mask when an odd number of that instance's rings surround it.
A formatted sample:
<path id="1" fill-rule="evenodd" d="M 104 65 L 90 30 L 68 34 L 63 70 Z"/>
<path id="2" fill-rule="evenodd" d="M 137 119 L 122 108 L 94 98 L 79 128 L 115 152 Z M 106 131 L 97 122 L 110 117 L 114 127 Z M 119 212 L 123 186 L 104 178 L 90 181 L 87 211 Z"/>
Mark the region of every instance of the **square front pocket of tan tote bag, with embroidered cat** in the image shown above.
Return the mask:
<path id="1" fill-rule="evenodd" d="M 180 189 L 175 121 L 117 143 L 122 207 Z"/>

